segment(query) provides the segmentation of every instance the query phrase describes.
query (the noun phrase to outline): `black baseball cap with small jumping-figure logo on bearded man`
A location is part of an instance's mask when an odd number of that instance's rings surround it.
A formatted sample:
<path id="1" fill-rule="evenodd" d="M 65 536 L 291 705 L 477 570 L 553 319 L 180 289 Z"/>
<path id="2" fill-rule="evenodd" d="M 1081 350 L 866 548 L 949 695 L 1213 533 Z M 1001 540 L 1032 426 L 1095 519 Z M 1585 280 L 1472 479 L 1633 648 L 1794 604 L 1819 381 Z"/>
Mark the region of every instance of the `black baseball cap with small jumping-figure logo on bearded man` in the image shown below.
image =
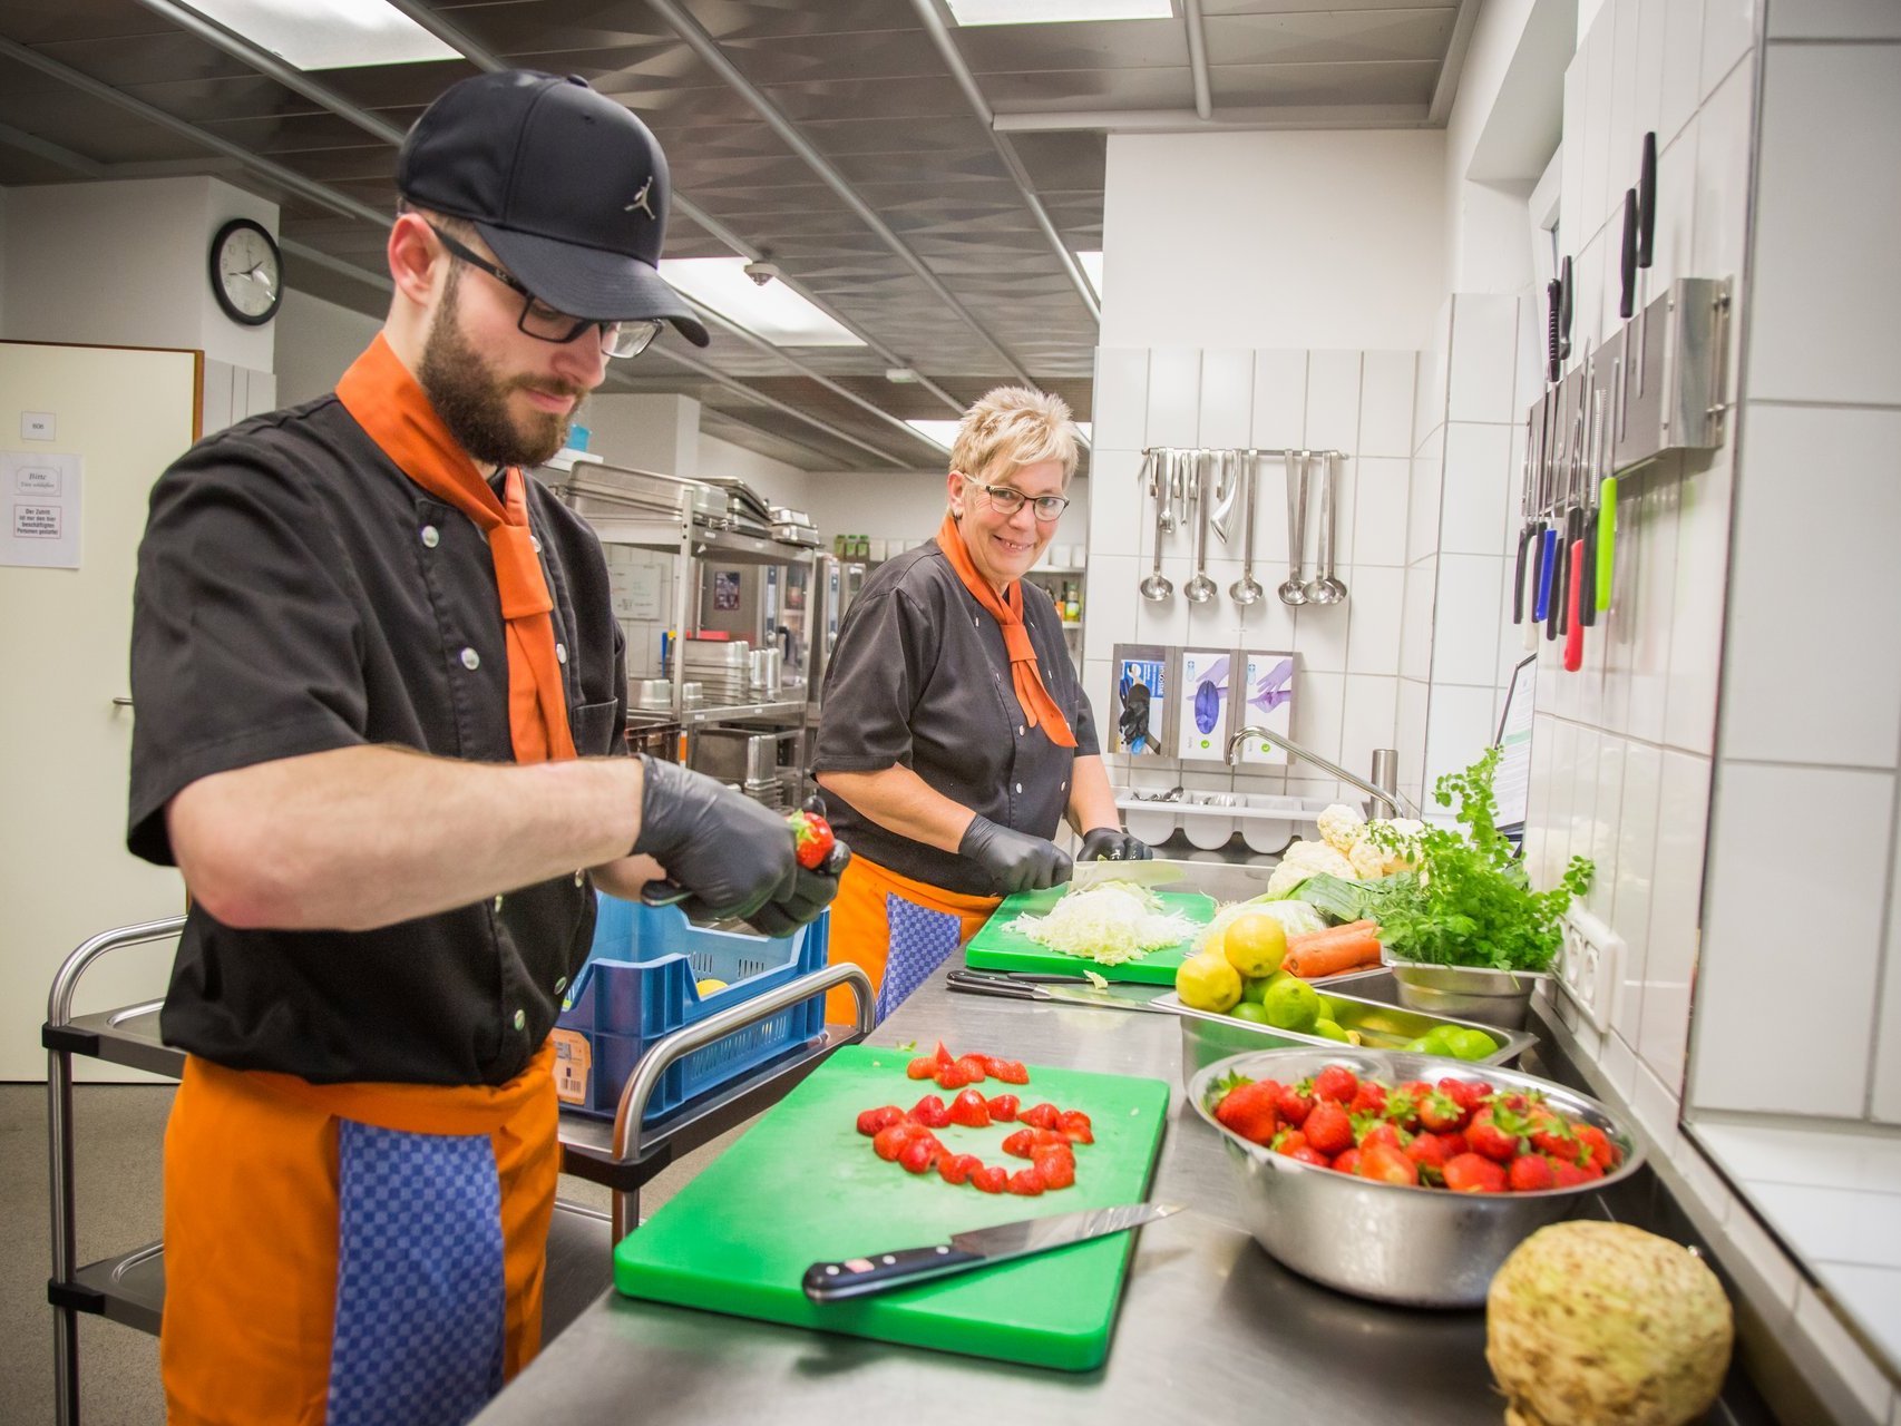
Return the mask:
<path id="1" fill-rule="evenodd" d="M 667 156 L 587 80 L 496 70 L 452 84 L 403 139 L 395 186 L 416 207 L 473 222 L 549 306 L 593 321 L 665 318 L 707 344 L 658 268 Z"/>

